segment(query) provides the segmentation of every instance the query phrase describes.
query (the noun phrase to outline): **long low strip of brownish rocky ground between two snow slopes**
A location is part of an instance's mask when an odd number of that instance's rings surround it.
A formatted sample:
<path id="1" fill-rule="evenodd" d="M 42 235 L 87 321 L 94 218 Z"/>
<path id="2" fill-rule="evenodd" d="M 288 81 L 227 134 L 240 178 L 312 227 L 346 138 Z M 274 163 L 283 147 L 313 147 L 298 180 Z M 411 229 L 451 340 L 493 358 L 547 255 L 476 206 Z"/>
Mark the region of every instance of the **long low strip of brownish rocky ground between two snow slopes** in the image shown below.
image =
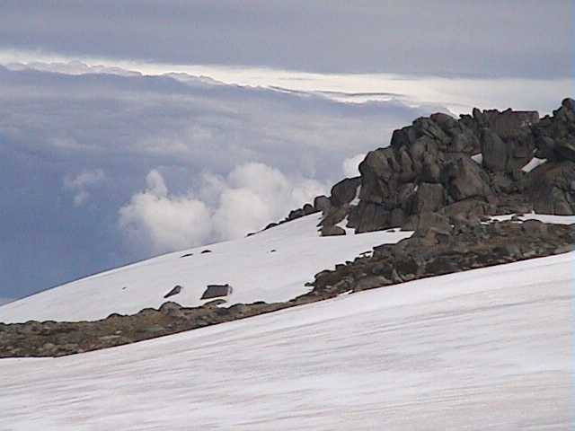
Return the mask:
<path id="1" fill-rule="evenodd" d="M 482 268 L 574 250 L 573 225 L 530 220 L 449 224 L 446 216 L 420 216 L 411 238 L 376 247 L 353 262 L 315 276 L 308 294 L 285 303 L 238 303 L 221 300 L 186 308 L 164 303 L 158 310 L 112 314 L 101 321 L 28 321 L 0 323 L 0 357 L 64 356 L 153 339 L 225 321 L 275 312 L 303 303 L 422 277 Z"/>

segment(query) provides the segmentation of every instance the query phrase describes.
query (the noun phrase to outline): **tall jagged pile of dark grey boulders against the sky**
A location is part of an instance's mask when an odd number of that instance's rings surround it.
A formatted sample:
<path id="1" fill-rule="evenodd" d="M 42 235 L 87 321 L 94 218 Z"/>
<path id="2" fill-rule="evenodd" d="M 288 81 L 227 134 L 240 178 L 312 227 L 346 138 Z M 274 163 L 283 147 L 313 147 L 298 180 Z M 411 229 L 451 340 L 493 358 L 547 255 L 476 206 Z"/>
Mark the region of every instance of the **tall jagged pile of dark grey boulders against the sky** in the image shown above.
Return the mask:
<path id="1" fill-rule="evenodd" d="M 527 169 L 534 157 L 544 163 Z M 341 180 L 313 207 L 322 212 L 323 235 L 345 234 L 344 226 L 357 233 L 403 226 L 434 211 L 456 219 L 573 215 L 572 163 L 572 99 L 543 119 L 536 111 L 474 109 L 459 119 L 436 113 L 395 130 L 389 146 L 366 155 L 359 177 Z"/>

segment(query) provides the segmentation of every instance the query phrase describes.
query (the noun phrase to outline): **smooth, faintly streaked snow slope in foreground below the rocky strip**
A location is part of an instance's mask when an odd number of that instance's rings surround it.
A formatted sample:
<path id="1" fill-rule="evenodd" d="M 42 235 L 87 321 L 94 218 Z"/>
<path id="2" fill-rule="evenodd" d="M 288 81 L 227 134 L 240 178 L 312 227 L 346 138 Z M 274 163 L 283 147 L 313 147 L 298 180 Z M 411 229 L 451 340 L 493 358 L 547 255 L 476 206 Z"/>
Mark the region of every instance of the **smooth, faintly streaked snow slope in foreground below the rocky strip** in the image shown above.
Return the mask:
<path id="1" fill-rule="evenodd" d="M 0 360 L 0 429 L 573 429 L 574 258 Z"/>

